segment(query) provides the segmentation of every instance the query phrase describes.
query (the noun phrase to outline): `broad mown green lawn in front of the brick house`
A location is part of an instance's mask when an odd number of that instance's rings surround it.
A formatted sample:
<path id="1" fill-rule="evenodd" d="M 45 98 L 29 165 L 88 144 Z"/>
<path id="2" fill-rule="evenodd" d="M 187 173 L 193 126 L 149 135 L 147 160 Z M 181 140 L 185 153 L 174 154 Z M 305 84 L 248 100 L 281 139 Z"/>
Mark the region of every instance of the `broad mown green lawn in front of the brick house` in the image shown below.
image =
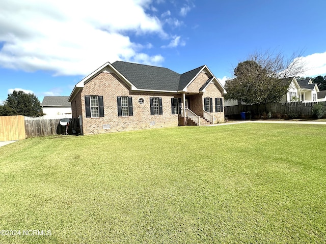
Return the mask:
<path id="1" fill-rule="evenodd" d="M 18 141 L 0 148 L 0 229 L 21 235 L 0 243 L 325 243 L 325 142 L 281 124 Z"/>

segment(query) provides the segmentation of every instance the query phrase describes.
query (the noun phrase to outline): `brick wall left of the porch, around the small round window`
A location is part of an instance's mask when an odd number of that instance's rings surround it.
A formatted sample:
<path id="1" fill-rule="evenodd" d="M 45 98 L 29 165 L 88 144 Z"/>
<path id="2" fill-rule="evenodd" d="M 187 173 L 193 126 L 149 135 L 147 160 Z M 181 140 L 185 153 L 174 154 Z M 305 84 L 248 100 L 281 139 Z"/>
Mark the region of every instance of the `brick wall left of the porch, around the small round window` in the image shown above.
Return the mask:
<path id="1" fill-rule="evenodd" d="M 104 117 L 86 117 L 85 96 L 90 95 L 103 96 Z M 132 97 L 133 116 L 118 116 L 118 96 Z M 150 115 L 150 97 L 162 98 L 162 115 Z M 172 96 L 171 94 L 161 93 L 130 92 L 129 86 L 114 73 L 100 73 L 85 84 L 84 89 L 80 93 L 80 97 L 76 96 L 75 99 L 81 103 L 82 113 L 80 114 L 83 115 L 84 135 L 87 135 L 178 126 L 178 114 L 171 113 L 171 98 L 174 97 L 181 98 L 180 95 Z M 139 104 L 138 100 L 140 98 L 144 99 L 143 104 Z M 72 103 L 74 103 L 74 100 Z M 78 117 L 78 115 L 73 113 L 73 117 Z M 150 122 L 152 121 L 155 122 L 155 125 L 150 126 Z M 110 125 L 111 129 L 103 129 L 103 125 Z"/>

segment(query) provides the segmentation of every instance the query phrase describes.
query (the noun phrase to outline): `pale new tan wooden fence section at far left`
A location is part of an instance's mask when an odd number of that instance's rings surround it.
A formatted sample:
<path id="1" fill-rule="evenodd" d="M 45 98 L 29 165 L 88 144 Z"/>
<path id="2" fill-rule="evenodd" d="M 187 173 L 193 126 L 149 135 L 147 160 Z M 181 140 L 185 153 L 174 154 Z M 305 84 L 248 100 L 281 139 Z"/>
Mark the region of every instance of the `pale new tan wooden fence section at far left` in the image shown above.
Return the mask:
<path id="1" fill-rule="evenodd" d="M 24 116 L 0 116 L 0 141 L 25 139 Z"/>

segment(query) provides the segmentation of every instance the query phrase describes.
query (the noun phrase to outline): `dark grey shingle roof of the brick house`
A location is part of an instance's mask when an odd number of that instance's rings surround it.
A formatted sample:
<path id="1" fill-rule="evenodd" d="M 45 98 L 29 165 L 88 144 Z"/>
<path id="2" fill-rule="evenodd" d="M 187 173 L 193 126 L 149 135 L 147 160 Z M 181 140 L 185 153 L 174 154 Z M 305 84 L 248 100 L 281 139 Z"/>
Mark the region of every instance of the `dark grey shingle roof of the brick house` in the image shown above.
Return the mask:
<path id="1" fill-rule="evenodd" d="M 169 91 L 182 90 L 204 67 L 180 75 L 167 68 L 121 61 L 114 62 L 112 66 L 138 89 Z"/>

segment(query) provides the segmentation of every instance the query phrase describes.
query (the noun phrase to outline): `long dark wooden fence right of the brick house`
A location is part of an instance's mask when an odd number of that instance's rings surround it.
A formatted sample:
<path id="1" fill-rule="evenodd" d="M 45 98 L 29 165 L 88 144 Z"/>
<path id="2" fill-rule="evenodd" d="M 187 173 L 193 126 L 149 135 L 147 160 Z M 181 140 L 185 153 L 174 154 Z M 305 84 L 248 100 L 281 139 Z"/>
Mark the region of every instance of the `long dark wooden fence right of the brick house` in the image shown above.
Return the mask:
<path id="1" fill-rule="evenodd" d="M 291 102 L 291 103 L 267 103 L 267 104 L 253 104 L 253 105 L 236 105 L 224 107 L 224 114 L 230 118 L 239 118 L 241 112 L 250 112 L 252 118 L 261 118 L 268 116 L 274 118 L 287 118 L 291 116 L 297 117 L 311 117 L 312 108 L 315 104 L 322 104 L 326 106 L 326 102 Z"/>

